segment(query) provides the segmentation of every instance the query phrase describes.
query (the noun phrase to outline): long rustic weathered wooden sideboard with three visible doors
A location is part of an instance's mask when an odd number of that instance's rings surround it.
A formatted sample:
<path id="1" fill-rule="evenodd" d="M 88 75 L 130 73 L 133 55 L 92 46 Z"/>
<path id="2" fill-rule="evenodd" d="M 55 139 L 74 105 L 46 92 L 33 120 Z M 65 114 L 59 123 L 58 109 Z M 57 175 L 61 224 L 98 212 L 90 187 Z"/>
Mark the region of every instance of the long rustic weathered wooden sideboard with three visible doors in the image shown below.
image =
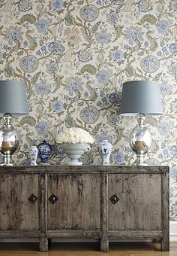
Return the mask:
<path id="1" fill-rule="evenodd" d="M 152 239 L 169 251 L 168 166 L 1 166 L 0 239 Z"/>

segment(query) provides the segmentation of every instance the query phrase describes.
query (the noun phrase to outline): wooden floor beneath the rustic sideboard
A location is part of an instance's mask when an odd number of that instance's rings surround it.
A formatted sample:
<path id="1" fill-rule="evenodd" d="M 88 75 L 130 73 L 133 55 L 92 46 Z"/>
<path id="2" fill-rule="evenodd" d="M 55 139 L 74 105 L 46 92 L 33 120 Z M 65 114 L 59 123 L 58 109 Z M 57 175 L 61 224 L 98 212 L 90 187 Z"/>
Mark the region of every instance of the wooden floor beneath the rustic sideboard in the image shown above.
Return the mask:
<path id="1" fill-rule="evenodd" d="M 152 242 L 112 242 L 109 252 L 99 251 L 98 242 L 52 242 L 47 252 L 38 251 L 37 242 L 0 242 L 0 256 L 177 256 L 177 242 L 170 251 L 159 251 Z"/>

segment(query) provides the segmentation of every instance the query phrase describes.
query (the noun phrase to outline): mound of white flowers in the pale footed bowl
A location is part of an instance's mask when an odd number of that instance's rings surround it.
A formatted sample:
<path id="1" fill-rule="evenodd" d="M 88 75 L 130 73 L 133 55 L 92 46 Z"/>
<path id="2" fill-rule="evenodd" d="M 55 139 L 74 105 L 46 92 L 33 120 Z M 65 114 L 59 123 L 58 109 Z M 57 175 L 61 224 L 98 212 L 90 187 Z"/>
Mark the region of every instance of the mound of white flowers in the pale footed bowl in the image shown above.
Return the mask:
<path id="1" fill-rule="evenodd" d="M 59 134 L 57 142 L 70 143 L 70 144 L 86 144 L 94 143 L 94 138 L 86 131 L 81 128 L 72 127 Z"/>

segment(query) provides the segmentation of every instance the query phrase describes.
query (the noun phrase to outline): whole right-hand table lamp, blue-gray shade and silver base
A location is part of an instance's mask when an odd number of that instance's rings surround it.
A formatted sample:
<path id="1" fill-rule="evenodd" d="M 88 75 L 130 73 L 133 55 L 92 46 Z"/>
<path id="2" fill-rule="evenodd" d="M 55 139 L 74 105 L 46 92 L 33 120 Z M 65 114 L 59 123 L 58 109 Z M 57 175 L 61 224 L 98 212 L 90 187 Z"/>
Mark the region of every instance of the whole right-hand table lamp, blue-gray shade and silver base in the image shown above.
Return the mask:
<path id="1" fill-rule="evenodd" d="M 151 133 L 143 123 L 148 115 L 163 114 L 160 86 L 154 81 L 129 81 L 122 87 L 120 114 L 136 116 L 138 124 L 130 133 L 130 148 L 136 152 L 136 165 L 145 165 L 144 154 L 151 147 Z"/>

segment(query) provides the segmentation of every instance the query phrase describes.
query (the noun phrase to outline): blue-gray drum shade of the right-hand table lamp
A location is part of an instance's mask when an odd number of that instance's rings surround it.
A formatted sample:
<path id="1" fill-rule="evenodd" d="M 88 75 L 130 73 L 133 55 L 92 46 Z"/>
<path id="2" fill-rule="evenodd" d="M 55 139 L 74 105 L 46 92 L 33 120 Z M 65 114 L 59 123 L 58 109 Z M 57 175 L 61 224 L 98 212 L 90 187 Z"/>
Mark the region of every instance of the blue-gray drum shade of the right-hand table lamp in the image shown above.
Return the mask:
<path id="1" fill-rule="evenodd" d="M 120 114 L 163 114 L 160 87 L 154 81 L 130 81 L 122 87 Z"/>

